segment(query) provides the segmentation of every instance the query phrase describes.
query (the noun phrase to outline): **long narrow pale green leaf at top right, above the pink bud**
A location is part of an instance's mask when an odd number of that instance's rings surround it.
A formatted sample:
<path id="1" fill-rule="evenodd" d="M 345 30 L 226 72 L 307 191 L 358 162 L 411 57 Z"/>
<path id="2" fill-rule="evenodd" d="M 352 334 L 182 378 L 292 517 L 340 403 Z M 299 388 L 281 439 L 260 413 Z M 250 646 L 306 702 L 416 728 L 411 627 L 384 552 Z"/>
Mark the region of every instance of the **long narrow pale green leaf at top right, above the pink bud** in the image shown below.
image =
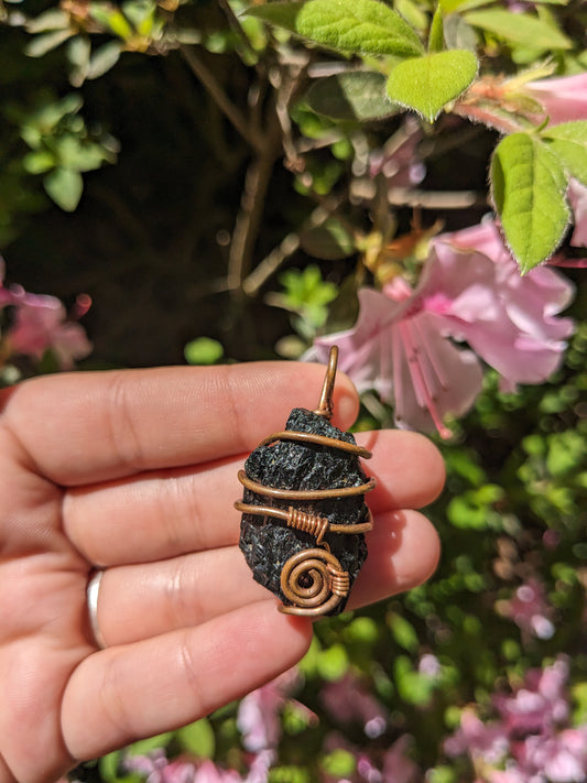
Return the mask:
<path id="1" fill-rule="evenodd" d="M 525 13 L 491 9 L 469 11 L 464 17 L 469 24 L 522 46 L 548 51 L 573 46 L 573 42 L 557 28 Z"/>

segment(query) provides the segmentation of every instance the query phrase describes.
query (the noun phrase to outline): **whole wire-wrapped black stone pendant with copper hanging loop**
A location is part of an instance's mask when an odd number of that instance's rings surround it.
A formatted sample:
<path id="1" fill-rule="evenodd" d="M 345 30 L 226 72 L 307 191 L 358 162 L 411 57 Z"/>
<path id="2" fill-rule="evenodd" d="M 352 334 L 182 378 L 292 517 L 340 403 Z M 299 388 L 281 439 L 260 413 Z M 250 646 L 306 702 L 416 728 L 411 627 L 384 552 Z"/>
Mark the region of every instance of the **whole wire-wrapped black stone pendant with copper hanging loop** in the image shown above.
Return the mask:
<path id="1" fill-rule="evenodd" d="M 376 481 L 359 461 L 371 453 L 329 421 L 337 361 L 333 347 L 318 407 L 294 409 L 238 474 L 240 548 L 253 578 L 289 615 L 341 612 L 367 557 L 372 515 L 365 496 Z"/>

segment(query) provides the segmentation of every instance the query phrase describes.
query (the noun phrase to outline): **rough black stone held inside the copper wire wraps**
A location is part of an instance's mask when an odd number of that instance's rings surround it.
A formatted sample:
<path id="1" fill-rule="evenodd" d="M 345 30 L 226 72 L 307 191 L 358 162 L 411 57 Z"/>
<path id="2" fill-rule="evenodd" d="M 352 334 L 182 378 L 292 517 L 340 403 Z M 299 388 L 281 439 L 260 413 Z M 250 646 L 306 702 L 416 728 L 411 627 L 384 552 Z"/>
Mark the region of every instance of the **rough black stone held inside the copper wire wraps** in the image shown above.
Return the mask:
<path id="1" fill-rule="evenodd" d="M 315 433 L 337 441 L 355 444 L 350 433 L 333 426 L 324 416 L 301 407 L 294 409 L 285 429 Z M 308 490 L 359 487 L 366 483 L 359 458 L 337 448 L 279 441 L 256 448 L 244 463 L 247 476 L 265 487 Z M 366 522 L 368 509 L 365 496 L 325 500 L 276 500 L 244 489 L 243 501 L 252 505 L 271 505 L 284 509 L 295 505 L 300 511 L 326 516 L 333 524 L 355 524 Z M 338 558 L 344 570 L 355 581 L 367 557 L 367 545 L 362 533 L 333 533 L 325 535 L 330 552 Z M 281 591 L 280 576 L 284 563 L 302 550 L 316 547 L 314 536 L 303 531 L 287 528 L 284 521 L 272 516 L 242 514 L 240 525 L 240 548 L 249 564 L 254 579 L 276 595 L 285 605 L 291 601 Z M 330 615 L 344 610 L 343 600 Z"/>

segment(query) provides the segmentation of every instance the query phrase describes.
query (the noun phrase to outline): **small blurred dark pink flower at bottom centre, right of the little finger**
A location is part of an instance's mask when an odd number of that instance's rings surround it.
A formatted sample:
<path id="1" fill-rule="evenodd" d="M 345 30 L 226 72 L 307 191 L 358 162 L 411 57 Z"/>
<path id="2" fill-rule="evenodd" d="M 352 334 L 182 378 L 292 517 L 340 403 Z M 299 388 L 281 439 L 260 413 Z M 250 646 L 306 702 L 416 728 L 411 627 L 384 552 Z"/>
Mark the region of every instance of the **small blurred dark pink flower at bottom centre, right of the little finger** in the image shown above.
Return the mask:
<path id="1" fill-rule="evenodd" d="M 365 733 L 371 739 L 385 731 L 387 711 L 352 674 L 327 683 L 320 692 L 320 700 L 337 720 L 360 721 Z"/>

